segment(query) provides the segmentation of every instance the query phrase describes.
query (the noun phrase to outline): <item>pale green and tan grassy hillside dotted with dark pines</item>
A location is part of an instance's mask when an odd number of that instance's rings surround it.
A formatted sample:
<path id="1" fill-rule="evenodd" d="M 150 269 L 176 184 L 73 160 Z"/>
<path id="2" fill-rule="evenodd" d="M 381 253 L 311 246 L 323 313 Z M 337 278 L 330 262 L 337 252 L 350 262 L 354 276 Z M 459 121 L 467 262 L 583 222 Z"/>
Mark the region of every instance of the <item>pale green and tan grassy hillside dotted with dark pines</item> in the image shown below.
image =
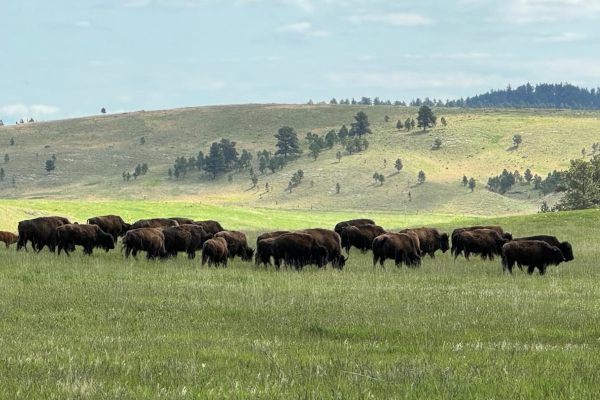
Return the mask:
<path id="1" fill-rule="evenodd" d="M 348 155 L 338 163 L 336 146 L 314 161 L 308 156 L 308 131 L 325 134 L 350 125 L 365 111 L 373 134 L 366 152 Z M 541 198 L 531 186 L 515 187 L 506 196 L 484 188 L 491 175 L 504 168 L 545 176 L 581 157 L 582 147 L 598 140 L 600 112 L 557 110 L 434 109 L 448 126 L 406 133 L 395 129 L 397 120 L 416 118 L 412 107 L 243 105 L 177 109 L 96 116 L 0 128 L 0 154 L 9 154 L 0 182 L 4 199 L 52 200 L 154 200 L 212 205 L 282 209 L 364 210 L 407 214 L 442 213 L 504 215 L 535 212 Z M 384 122 L 389 115 L 390 121 Z M 259 176 L 250 189 L 248 172 L 210 180 L 198 172 L 186 179 L 169 180 L 167 171 L 178 156 L 207 153 L 210 143 L 221 138 L 238 142 L 238 149 L 253 154 L 275 149 L 273 135 L 281 126 L 296 129 L 304 154 L 275 174 Z M 512 136 L 523 143 L 512 149 Z M 140 144 L 144 137 L 146 143 Z M 443 145 L 431 150 L 435 138 Z M 11 138 L 15 144 L 10 145 Z M 56 170 L 48 174 L 45 161 L 56 154 Z M 404 169 L 396 174 L 400 157 Z M 384 168 L 383 160 L 387 159 Z M 137 181 L 123 182 L 123 171 L 133 172 L 147 163 L 149 173 Z M 256 156 L 253 164 L 256 165 Z M 254 167 L 257 170 L 256 166 Z M 302 169 L 304 182 L 292 193 L 285 191 L 291 175 Z M 420 170 L 427 181 L 415 185 Z M 375 172 L 386 176 L 375 185 Z M 471 193 L 460 184 L 463 174 L 475 177 Z M 15 186 L 12 178 L 15 178 Z M 309 182 L 314 181 L 314 187 Z M 341 193 L 335 193 L 336 183 Z M 264 193 L 269 183 L 272 190 Z M 412 194 L 409 201 L 408 192 Z M 552 197 L 550 203 L 556 201 Z"/>

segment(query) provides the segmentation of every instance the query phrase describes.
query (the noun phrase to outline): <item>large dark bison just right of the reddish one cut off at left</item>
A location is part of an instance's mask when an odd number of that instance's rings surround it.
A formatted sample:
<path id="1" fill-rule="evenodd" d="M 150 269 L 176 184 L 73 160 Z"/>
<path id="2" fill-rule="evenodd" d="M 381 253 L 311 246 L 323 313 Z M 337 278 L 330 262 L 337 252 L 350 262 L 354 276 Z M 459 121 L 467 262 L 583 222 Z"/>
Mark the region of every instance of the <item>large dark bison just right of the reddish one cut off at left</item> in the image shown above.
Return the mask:
<path id="1" fill-rule="evenodd" d="M 71 222 L 64 217 L 39 217 L 19 222 L 19 242 L 17 251 L 23 247 L 27 250 L 27 242 L 31 242 L 33 250 L 39 253 L 44 246 L 54 253 L 56 250 L 56 228 Z"/>

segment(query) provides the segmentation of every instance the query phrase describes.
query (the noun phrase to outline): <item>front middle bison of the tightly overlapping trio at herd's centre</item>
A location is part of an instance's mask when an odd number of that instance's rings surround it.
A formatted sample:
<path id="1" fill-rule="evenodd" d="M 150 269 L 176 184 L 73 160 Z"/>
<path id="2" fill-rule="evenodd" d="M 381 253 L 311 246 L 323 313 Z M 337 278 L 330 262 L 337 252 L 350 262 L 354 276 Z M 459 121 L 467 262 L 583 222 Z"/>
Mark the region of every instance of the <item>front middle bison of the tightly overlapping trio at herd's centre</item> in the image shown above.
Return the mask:
<path id="1" fill-rule="evenodd" d="M 327 248 L 320 245 L 312 235 L 286 233 L 272 240 L 271 252 L 277 269 L 281 267 L 282 260 L 298 271 L 309 264 L 316 264 L 319 268 L 327 264 Z"/>

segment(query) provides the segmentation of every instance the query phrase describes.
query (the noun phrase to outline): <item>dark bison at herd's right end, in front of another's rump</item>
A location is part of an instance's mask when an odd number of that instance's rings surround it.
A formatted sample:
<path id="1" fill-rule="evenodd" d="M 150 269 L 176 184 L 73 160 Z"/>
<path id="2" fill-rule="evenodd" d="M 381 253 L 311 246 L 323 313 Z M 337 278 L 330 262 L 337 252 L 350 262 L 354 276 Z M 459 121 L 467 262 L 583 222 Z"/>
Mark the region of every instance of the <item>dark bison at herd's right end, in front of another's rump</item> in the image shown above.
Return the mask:
<path id="1" fill-rule="evenodd" d="M 558 265 L 565 257 L 558 247 L 551 246 L 541 240 L 523 240 L 510 242 L 502 247 L 502 270 L 512 274 L 515 262 L 521 267 L 526 265 L 528 274 L 539 269 L 540 275 L 546 273 L 548 265 Z"/>

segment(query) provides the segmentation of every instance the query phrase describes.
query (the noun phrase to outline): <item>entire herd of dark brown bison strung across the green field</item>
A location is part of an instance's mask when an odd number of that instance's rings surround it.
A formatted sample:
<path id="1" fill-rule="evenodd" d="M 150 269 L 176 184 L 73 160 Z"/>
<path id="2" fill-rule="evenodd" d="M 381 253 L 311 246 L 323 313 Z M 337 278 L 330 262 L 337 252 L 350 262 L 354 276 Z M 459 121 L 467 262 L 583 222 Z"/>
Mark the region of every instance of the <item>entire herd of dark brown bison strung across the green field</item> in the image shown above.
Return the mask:
<path id="1" fill-rule="evenodd" d="M 472 254 L 482 259 L 502 259 L 503 270 L 511 274 L 515 263 L 520 269 L 528 267 L 532 274 L 537 268 L 540 274 L 549 265 L 573 260 L 573 249 L 569 242 L 560 242 L 554 236 L 530 236 L 513 238 L 499 226 L 472 226 L 455 229 L 451 235 L 435 228 L 404 229 L 388 232 L 370 219 L 340 222 L 334 230 L 303 229 L 298 231 L 267 232 L 258 236 L 256 250 L 248 245 L 243 232 L 225 230 L 217 221 L 193 221 L 188 218 L 153 218 L 126 223 L 117 215 L 105 215 L 87 220 L 87 224 L 71 223 L 63 217 L 39 217 L 19 222 L 19 235 L 0 232 L 0 241 L 9 247 L 17 244 L 17 251 L 27 249 L 27 244 L 38 253 L 48 247 L 51 252 L 58 248 L 69 255 L 76 246 L 81 246 L 86 255 L 96 248 L 109 251 L 115 248 L 122 237 L 121 251 L 125 257 L 137 257 L 146 253 L 148 259 L 166 259 L 186 253 L 194 259 L 202 252 L 202 265 L 227 266 L 227 261 L 240 257 L 242 261 L 254 262 L 268 267 L 273 261 L 300 271 L 306 265 L 319 268 L 331 264 L 342 269 L 355 247 L 373 253 L 373 268 L 377 263 L 384 267 L 385 261 L 394 260 L 396 266 L 421 265 L 424 256 L 434 258 L 440 250 L 456 259 Z"/>

